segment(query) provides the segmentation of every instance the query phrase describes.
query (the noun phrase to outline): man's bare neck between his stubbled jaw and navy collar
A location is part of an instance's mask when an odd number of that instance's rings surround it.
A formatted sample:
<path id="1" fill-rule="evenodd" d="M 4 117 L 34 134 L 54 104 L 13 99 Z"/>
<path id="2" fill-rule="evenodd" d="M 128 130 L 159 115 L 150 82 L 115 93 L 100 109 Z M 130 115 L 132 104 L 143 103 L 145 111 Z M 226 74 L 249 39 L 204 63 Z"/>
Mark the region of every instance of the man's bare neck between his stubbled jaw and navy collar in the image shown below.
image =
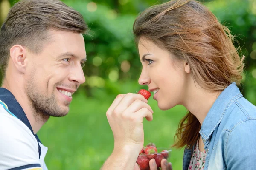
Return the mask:
<path id="1" fill-rule="evenodd" d="M 11 82 L 9 79 L 4 79 L 2 88 L 6 88 L 14 95 L 15 99 L 25 112 L 33 132 L 36 134 L 44 123 L 47 122 L 49 116 L 45 116 L 42 113 L 35 113 L 32 104 L 26 95 L 25 88 L 22 88 L 22 85 L 24 85 L 23 82 L 17 81 L 17 79 L 16 81 L 15 79 L 12 80 L 13 81 Z"/>

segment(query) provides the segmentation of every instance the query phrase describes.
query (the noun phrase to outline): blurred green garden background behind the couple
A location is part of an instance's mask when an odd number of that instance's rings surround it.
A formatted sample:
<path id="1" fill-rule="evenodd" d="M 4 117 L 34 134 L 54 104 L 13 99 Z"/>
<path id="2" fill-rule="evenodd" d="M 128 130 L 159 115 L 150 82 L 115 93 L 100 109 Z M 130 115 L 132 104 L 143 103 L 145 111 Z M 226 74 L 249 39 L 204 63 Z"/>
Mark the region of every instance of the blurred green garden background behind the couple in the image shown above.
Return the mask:
<path id="1" fill-rule="evenodd" d="M 99 170 L 113 150 L 113 134 L 105 112 L 117 94 L 136 92 L 141 64 L 134 45 L 133 22 L 141 11 L 167 0 L 63 0 L 84 16 L 91 36 L 84 36 L 86 82 L 73 95 L 70 113 L 50 118 L 38 136 L 48 153 L 49 170 Z M 0 0 L 0 24 L 17 0 Z M 256 0 L 202 0 L 230 28 L 245 55 L 242 94 L 256 105 Z M 237 43 L 235 44 L 238 45 Z M 242 54 L 241 54 L 242 55 Z M 1 77 L 0 77 L 1 79 Z M 169 147 L 186 114 L 183 106 L 160 111 L 149 99 L 154 120 L 144 121 L 145 145 Z M 183 149 L 172 148 L 174 170 L 182 169 Z"/>

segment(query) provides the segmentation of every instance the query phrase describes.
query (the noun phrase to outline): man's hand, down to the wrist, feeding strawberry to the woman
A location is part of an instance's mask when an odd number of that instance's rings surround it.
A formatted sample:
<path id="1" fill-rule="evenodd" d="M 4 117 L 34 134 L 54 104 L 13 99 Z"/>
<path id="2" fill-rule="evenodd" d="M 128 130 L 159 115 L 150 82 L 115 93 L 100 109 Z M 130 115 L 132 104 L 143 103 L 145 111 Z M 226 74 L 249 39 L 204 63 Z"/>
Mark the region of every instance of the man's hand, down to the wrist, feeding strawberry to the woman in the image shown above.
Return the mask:
<path id="1" fill-rule="evenodd" d="M 144 117 L 153 119 L 152 109 L 140 94 L 119 94 L 108 109 L 106 115 L 113 131 L 115 148 L 134 146 L 137 153 L 143 148 Z"/>

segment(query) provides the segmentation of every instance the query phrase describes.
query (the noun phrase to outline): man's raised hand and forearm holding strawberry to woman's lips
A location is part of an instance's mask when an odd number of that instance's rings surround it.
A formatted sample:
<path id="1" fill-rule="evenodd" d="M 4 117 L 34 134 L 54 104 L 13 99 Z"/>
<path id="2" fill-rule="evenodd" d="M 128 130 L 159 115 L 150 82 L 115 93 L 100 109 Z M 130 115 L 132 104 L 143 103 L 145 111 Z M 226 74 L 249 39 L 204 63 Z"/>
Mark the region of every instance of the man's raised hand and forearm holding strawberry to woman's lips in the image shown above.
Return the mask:
<path id="1" fill-rule="evenodd" d="M 140 94 L 119 94 L 106 116 L 114 136 L 114 150 L 102 170 L 132 170 L 143 148 L 143 119 L 153 119 L 148 100 Z"/>

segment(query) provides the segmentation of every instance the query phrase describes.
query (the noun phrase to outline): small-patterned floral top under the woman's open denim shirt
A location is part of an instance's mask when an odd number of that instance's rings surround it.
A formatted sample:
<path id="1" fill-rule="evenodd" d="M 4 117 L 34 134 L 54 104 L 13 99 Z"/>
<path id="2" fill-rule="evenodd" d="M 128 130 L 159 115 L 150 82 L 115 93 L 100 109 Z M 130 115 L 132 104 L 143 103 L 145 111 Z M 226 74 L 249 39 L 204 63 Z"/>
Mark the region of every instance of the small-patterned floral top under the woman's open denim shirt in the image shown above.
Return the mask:
<path id="1" fill-rule="evenodd" d="M 196 143 L 195 150 L 193 151 L 192 158 L 190 160 L 189 169 L 188 170 L 203 170 L 205 164 L 205 156 L 206 152 L 201 152 L 199 150 L 199 139 Z"/>

